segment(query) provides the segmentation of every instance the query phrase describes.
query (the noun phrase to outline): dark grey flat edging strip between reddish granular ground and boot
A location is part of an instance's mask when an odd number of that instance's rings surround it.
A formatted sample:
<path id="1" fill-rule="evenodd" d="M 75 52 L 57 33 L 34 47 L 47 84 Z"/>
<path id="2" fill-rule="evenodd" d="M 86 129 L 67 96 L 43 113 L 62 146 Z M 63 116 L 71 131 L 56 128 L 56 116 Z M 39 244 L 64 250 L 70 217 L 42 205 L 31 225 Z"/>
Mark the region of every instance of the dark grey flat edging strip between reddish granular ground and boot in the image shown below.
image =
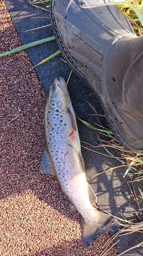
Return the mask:
<path id="1" fill-rule="evenodd" d="M 50 17 L 50 13 L 48 11 L 39 10 L 26 0 L 6 0 L 5 4 L 13 19 L 17 33 L 24 45 L 54 35 L 52 26 L 25 32 L 26 30 L 43 27 L 50 24 L 50 18 L 47 18 Z M 48 5 L 49 3 L 45 3 L 41 7 L 49 10 L 49 8 L 46 8 Z M 35 66 L 41 60 L 58 50 L 60 50 L 60 47 L 56 43 L 56 40 L 53 40 L 40 46 L 27 49 L 26 51 L 33 66 Z M 62 54 L 35 68 L 37 76 L 42 82 L 42 86 L 46 93 L 54 77 L 59 78 L 59 76 L 63 76 L 66 81 L 69 77 L 71 67 L 68 66 L 68 64 L 65 63 L 61 58 L 64 59 Z M 75 72 L 73 72 L 71 75 L 68 90 L 75 111 L 78 111 L 84 115 L 85 118 L 88 119 L 88 122 L 92 125 L 98 127 L 95 123 L 99 123 L 100 121 L 102 126 L 108 128 L 108 123 L 103 116 L 104 112 L 102 110 L 98 95 L 96 95 L 91 89 L 90 85 Z M 100 116 L 95 116 L 96 113 L 98 113 Z M 97 145 L 96 143 L 99 143 L 98 137 L 93 130 L 89 129 L 79 120 L 77 120 L 77 125 L 81 141 L 90 143 L 94 146 Z M 110 140 L 110 138 L 106 136 L 102 136 L 102 139 Z M 81 142 L 81 145 L 87 147 L 88 145 L 84 142 Z M 109 171 L 95 177 L 96 174 L 102 173 L 105 169 L 122 165 L 122 163 L 116 158 L 101 155 L 107 155 L 107 152 L 103 147 L 88 147 L 93 151 L 96 150 L 98 152 L 96 153 L 88 150 L 87 148 L 81 147 L 85 162 L 85 173 L 87 175 L 88 182 L 91 184 L 97 195 L 98 206 L 119 218 L 122 218 L 120 215 L 121 213 L 127 220 L 139 222 L 135 212 L 141 217 L 140 214 L 142 213 L 142 210 L 138 210 L 137 204 L 132 198 L 128 185 L 123 178 L 126 168 L 117 168 L 116 170 Z M 110 150 L 110 153 L 113 156 L 118 157 L 116 150 Z M 129 181 L 129 177 L 126 178 Z M 134 182 L 134 187 L 138 198 L 138 187 L 140 186 L 140 182 Z M 140 206 L 143 208 L 142 202 L 140 202 Z M 140 243 L 142 241 L 142 234 L 132 233 L 127 236 L 122 236 L 115 241 L 119 239 L 120 242 L 118 242 L 117 248 L 119 253 L 121 253 Z M 124 253 L 123 255 L 143 255 L 143 248 L 136 248 Z"/>

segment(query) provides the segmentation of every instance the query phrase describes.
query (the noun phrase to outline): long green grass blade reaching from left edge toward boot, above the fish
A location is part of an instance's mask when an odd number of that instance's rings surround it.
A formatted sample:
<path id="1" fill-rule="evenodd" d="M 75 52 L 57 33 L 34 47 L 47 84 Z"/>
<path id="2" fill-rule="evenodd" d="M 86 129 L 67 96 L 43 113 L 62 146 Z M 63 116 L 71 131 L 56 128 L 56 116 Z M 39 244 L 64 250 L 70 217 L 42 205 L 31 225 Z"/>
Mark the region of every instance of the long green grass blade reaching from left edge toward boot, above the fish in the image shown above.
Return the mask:
<path id="1" fill-rule="evenodd" d="M 27 48 L 31 48 L 33 46 L 38 46 L 38 45 L 44 44 L 44 42 L 49 42 L 49 41 L 52 41 L 52 40 L 55 40 L 55 36 L 47 37 L 47 38 L 44 38 L 44 39 L 41 39 L 41 40 L 38 40 L 38 41 L 35 41 L 35 42 L 30 42 L 30 44 L 20 46 L 20 47 L 15 48 L 11 51 L 8 51 L 8 52 L 1 53 L 0 57 L 6 56 L 8 54 L 15 53 L 15 52 L 19 52 L 19 51 L 25 50 Z"/>

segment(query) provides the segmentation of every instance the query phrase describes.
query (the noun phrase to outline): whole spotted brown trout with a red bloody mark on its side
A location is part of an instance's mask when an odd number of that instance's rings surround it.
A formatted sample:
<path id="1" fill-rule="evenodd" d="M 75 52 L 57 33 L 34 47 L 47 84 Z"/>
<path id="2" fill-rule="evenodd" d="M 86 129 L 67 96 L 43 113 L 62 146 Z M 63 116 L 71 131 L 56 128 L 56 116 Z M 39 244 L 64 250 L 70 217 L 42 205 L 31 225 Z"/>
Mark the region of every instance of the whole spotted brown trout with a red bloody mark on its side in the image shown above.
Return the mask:
<path id="1" fill-rule="evenodd" d="M 75 112 L 63 77 L 49 87 L 44 109 L 41 173 L 56 176 L 71 205 L 81 215 L 82 240 L 89 247 L 104 231 L 120 229 L 115 217 L 98 211 L 96 194 L 87 182 Z"/>

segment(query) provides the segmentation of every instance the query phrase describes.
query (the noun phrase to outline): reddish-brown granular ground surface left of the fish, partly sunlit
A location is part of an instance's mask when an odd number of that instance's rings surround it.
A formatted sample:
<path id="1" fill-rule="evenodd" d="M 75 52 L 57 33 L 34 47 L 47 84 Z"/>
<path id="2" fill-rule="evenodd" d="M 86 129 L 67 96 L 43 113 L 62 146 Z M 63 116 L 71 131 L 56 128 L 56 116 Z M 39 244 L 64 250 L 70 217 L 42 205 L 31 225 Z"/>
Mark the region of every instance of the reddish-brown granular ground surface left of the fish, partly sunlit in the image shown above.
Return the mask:
<path id="1" fill-rule="evenodd" d="M 0 10 L 2 53 L 21 41 L 2 0 Z M 26 52 L 1 57 L 0 72 L 0 255 L 99 256 L 109 234 L 85 249 L 79 214 L 56 178 L 40 173 L 45 93 Z"/>

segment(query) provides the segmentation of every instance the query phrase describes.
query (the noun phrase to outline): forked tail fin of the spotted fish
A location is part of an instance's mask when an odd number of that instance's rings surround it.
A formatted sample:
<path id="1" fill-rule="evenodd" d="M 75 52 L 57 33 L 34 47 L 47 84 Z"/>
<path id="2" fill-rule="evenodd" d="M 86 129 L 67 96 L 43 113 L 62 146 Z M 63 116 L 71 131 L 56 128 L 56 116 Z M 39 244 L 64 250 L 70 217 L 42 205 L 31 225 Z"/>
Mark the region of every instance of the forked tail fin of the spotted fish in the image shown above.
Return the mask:
<path id="1" fill-rule="evenodd" d="M 97 210 L 96 210 L 97 211 Z M 83 221 L 83 245 L 89 247 L 104 231 L 118 231 L 121 227 L 116 218 L 97 211 L 94 223 Z"/>

